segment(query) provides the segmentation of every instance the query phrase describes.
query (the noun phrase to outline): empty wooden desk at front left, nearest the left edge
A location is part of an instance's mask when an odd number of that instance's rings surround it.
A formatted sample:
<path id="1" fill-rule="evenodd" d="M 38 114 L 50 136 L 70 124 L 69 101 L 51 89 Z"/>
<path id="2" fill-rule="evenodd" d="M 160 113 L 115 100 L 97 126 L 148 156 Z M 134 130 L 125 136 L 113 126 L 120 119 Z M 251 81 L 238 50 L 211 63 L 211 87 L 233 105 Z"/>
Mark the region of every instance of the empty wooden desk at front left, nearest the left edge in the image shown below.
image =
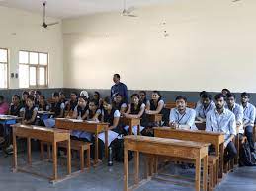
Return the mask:
<path id="1" fill-rule="evenodd" d="M 71 151 L 70 151 L 70 133 L 66 130 L 49 129 L 40 126 L 30 126 L 16 124 L 13 127 L 13 171 L 24 171 L 27 173 L 33 173 L 35 175 L 43 176 L 37 172 L 31 172 L 24 168 L 18 168 L 17 163 L 17 137 L 27 138 L 27 150 L 28 150 L 28 164 L 32 165 L 31 159 L 31 139 L 38 139 L 44 142 L 52 143 L 52 159 L 53 159 L 53 176 L 47 177 L 51 182 L 63 180 L 57 177 L 57 142 L 67 142 L 67 174 L 71 174 Z"/>

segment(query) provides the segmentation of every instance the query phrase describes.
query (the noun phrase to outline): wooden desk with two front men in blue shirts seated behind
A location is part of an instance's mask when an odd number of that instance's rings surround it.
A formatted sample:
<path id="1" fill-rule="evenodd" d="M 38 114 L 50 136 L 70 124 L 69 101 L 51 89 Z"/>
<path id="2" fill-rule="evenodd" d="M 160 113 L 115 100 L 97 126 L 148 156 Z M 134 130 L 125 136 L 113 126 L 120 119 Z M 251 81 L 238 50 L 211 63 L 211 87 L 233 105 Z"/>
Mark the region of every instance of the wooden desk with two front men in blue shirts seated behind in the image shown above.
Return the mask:
<path id="1" fill-rule="evenodd" d="M 223 177 L 223 157 L 224 157 L 224 134 L 218 132 L 208 132 L 200 130 L 181 130 L 170 127 L 154 127 L 154 136 L 186 141 L 196 141 L 201 143 L 211 143 L 219 157 L 219 178 Z M 218 168 L 218 167 L 217 167 Z M 217 174 L 217 173 L 216 173 Z"/>

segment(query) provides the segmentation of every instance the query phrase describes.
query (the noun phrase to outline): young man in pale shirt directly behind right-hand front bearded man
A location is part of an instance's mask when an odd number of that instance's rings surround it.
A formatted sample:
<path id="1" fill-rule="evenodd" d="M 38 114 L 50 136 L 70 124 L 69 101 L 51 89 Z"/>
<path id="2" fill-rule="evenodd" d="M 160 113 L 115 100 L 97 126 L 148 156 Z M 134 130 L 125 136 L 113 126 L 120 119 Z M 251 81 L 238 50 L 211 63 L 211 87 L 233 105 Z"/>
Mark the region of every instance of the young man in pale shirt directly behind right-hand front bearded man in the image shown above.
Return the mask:
<path id="1" fill-rule="evenodd" d="M 239 127 L 239 133 L 242 137 L 244 134 L 244 129 L 243 129 L 243 107 L 240 106 L 235 102 L 235 95 L 232 93 L 227 93 L 226 94 L 226 109 L 229 109 L 234 113 L 235 116 L 235 121 L 236 121 L 236 126 Z"/>

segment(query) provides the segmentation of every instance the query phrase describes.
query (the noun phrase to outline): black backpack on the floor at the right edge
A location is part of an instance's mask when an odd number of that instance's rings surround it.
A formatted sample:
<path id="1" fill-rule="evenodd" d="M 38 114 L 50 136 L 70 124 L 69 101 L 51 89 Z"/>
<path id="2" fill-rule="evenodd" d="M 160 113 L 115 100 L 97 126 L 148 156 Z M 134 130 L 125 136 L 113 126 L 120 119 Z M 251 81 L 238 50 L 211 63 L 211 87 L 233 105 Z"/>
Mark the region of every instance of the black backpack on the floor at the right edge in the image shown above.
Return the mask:
<path id="1" fill-rule="evenodd" d="M 247 141 L 239 149 L 239 166 L 256 166 L 256 156 Z"/>

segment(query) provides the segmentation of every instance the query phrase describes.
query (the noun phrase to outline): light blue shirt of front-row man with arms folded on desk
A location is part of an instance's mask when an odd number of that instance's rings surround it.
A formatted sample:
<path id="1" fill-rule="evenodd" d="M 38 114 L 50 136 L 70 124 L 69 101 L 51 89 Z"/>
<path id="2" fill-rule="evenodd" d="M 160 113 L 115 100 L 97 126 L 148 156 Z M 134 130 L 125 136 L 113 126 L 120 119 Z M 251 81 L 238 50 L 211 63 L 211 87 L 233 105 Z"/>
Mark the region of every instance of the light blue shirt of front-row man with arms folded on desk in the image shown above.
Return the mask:
<path id="1" fill-rule="evenodd" d="M 188 125 L 191 129 L 197 129 L 195 125 L 196 111 L 192 108 L 187 108 L 183 114 L 180 114 L 177 108 L 172 108 L 170 111 L 170 122 L 178 123 L 179 125 Z"/>

